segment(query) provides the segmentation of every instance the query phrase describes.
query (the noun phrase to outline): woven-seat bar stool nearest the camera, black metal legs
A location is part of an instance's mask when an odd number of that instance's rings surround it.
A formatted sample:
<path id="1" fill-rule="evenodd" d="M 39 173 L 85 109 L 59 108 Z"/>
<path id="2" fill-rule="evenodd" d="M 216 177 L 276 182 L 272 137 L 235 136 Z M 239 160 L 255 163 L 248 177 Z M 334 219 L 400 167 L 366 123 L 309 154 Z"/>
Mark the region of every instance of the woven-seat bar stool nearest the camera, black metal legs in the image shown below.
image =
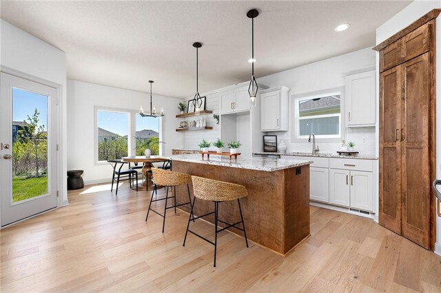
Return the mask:
<path id="1" fill-rule="evenodd" d="M 238 230 L 243 231 L 243 234 L 245 235 L 245 244 L 247 244 L 248 247 L 248 239 L 247 239 L 247 232 L 245 231 L 245 223 L 243 222 L 243 216 L 242 216 L 242 208 L 240 208 L 240 197 L 246 197 L 248 195 L 247 188 L 242 185 L 238 184 L 232 184 L 228 182 L 221 182 L 217 180 L 211 180 L 203 177 L 197 177 L 192 176 L 192 182 L 193 182 L 193 192 L 194 192 L 194 199 L 192 203 L 192 209 L 190 210 L 190 215 L 188 218 L 187 223 L 187 230 L 185 231 L 185 237 L 184 237 L 184 243 L 183 246 L 185 246 L 185 240 L 187 239 L 187 233 L 190 232 L 193 235 L 196 235 L 197 237 L 204 239 L 208 243 L 211 243 L 214 245 L 214 263 L 213 266 L 216 268 L 216 248 L 218 244 L 218 232 L 221 232 L 223 230 L 226 230 L 227 228 L 236 228 Z M 205 215 L 201 215 L 199 217 L 194 217 L 193 215 L 193 208 L 194 208 L 194 202 L 196 202 L 196 197 L 198 199 L 204 199 L 209 200 L 211 202 L 214 202 L 214 212 L 207 213 Z M 218 219 L 218 213 L 219 213 L 219 203 L 225 202 L 229 200 L 235 200 L 237 199 L 237 203 L 239 206 L 239 213 L 240 213 L 240 221 L 238 221 L 235 224 L 229 224 L 225 221 L 221 221 Z M 209 241 L 208 239 L 202 237 L 201 235 L 196 234 L 196 232 L 193 232 L 192 230 L 189 230 L 190 220 L 193 219 L 199 219 L 201 217 L 206 217 L 207 215 L 214 214 L 214 242 Z M 224 228 L 218 230 L 218 221 L 220 223 L 223 223 L 227 226 Z M 236 227 L 236 225 L 242 224 L 243 228 Z"/>

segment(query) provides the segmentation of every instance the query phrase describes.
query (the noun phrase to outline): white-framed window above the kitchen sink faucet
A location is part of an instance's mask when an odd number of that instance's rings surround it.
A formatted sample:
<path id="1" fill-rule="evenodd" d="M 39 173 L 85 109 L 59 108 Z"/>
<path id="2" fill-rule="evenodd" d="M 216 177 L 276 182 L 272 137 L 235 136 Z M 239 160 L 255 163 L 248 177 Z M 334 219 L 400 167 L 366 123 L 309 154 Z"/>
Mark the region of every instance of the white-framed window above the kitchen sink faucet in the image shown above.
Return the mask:
<path id="1" fill-rule="evenodd" d="M 295 100 L 296 138 L 341 138 L 341 91 Z"/>

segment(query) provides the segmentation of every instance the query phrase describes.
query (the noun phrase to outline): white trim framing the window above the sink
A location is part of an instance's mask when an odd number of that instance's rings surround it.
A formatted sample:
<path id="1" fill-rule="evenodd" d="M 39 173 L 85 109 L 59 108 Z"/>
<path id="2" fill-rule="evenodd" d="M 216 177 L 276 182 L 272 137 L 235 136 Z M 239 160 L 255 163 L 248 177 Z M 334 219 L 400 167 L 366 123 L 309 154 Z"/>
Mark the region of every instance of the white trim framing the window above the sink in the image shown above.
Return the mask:
<path id="1" fill-rule="evenodd" d="M 325 114 L 316 116 L 307 116 L 300 118 L 298 113 L 298 101 L 320 98 L 323 96 L 330 96 L 333 94 L 340 94 L 340 114 Z M 300 134 L 300 120 L 311 119 L 311 118 L 325 118 L 325 117 L 339 117 L 340 123 L 340 133 L 338 135 L 316 135 L 316 142 L 340 142 L 345 137 L 345 121 L 342 119 L 342 114 L 345 113 L 345 87 L 334 87 L 330 89 L 324 89 L 321 91 L 313 91 L 305 94 L 298 94 L 291 96 L 291 111 L 294 111 L 292 115 L 291 123 L 294 126 L 293 131 L 291 131 L 291 142 L 307 142 L 309 135 L 299 135 Z"/>

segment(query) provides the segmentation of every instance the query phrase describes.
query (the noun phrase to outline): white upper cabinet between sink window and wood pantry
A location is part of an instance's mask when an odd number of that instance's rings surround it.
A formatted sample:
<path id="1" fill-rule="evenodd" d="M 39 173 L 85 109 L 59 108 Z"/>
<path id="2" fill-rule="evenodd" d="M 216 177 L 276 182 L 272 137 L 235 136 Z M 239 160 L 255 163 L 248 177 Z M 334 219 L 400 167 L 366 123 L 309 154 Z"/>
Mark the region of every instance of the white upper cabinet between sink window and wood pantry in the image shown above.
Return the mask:
<path id="1" fill-rule="evenodd" d="M 346 126 L 376 124 L 375 70 L 346 76 Z"/>

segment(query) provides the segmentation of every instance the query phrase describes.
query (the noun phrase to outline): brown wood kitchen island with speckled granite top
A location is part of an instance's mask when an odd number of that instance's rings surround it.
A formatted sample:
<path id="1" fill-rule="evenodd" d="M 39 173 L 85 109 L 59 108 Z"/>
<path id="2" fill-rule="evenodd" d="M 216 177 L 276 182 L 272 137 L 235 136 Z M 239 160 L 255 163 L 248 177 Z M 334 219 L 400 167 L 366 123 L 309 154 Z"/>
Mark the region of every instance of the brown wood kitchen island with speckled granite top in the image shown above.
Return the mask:
<path id="1" fill-rule="evenodd" d="M 172 156 L 173 171 L 245 186 L 248 196 L 241 198 L 240 204 L 248 239 L 280 254 L 286 254 L 309 236 L 311 163 L 278 158 L 239 157 L 228 160 L 214 155 L 209 160 L 203 160 L 200 154 Z M 178 202 L 188 200 L 186 186 L 178 186 L 176 191 Z M 189 212 L 187 206 L 182 206 L 182 209 Z M 212 202 L 196 200 L 196 216 L 212 210 Z M 236 202 L 223 202 L 218 213 L 223 221 L 239 221 Z M 212 216 L 205 219 L 214 222 Z M 239 230 L 229 230 L 242 236 Z"/>

